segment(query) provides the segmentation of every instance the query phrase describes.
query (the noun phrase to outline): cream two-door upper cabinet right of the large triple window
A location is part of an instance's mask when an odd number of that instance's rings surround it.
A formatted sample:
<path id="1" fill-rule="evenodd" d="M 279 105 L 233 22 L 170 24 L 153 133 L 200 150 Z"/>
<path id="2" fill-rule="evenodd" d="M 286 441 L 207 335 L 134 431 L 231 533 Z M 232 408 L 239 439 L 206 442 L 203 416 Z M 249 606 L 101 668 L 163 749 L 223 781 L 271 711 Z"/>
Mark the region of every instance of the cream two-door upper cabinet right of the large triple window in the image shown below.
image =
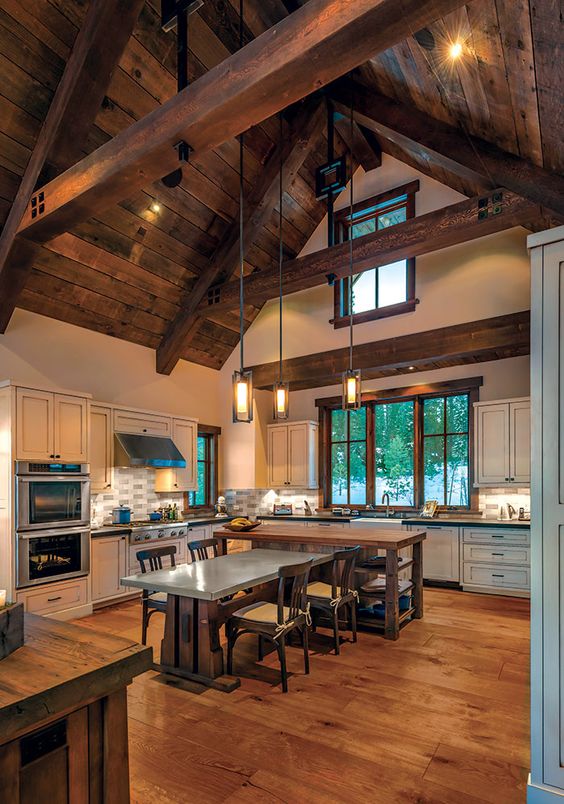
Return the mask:
<path id="1" fill-rule="evenodd" d="M 531 403 L 528 398 L 474 405 L 475 486 L 531 482 Z"/>

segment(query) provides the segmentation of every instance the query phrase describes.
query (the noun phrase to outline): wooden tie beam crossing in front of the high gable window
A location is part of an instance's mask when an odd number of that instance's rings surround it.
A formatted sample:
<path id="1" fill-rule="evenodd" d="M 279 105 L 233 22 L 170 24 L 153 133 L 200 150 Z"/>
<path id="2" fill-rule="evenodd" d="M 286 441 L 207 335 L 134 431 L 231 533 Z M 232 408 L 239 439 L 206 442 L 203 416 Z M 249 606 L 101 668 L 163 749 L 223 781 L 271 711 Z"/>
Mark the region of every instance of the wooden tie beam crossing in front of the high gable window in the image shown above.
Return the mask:
<path id="1" fill-rule="evenodd" d="M 539 204 L 526 201 L 507 190 L 495 192 L 503 193 L 501 212 L 492 214 L 490 205 L 490 214 L 483 220 L 478 217 L 479 198 L 471 198 L 358 238 L 353 249 L 355 273 L 396 260 L 429 254 L 542 218 L 543 209 Z M 330 246 L 286 261 L 283 290 L 285 294 L 306 290 L 324 284 L 329 274 L 342 278 L 348 275 L 349 270 L 348 244 Z M 206 309 L 233 309 L 238 304 L 238 294 L 238 283 L 228 282 L 220 288 L 216 304 L 209 306 L 207 300 L 201 303 L 202 315 Z M 250 304 L 261 304 L 277 295 L 277 270 L 259 271 L 245 280 L 245 299 Z"/>

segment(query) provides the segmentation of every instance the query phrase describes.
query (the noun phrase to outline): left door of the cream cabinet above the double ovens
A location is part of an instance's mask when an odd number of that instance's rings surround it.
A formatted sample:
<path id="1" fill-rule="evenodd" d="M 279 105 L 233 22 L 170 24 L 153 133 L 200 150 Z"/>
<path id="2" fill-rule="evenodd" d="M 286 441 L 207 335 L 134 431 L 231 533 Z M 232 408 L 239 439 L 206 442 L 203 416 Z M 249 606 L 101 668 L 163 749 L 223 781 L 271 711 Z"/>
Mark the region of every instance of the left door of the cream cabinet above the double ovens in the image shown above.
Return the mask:
<path id="1" fill-rule="evenodd" d="M 18 388 L 16 392 L 16 457 L 49 461 L 55 454 L 53 394 Z"/>

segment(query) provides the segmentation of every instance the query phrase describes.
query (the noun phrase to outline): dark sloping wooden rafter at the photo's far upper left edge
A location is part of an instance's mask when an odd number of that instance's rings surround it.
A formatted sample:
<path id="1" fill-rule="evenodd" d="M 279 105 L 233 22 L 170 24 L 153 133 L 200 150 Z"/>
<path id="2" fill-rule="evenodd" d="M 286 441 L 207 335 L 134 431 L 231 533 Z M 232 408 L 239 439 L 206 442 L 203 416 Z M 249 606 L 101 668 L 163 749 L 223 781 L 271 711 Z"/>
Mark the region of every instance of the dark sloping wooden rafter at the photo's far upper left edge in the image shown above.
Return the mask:
<path id="1" fill-rule="evenodd" d="M 16 234 L 39 174 L 46 162 L 64 169 L 80 156 L 142 6 L 143 0 L 98 0 L 88 8 L 0 235 L 0 332 L 31 270 L 33 246 L 16 242 Z"/>

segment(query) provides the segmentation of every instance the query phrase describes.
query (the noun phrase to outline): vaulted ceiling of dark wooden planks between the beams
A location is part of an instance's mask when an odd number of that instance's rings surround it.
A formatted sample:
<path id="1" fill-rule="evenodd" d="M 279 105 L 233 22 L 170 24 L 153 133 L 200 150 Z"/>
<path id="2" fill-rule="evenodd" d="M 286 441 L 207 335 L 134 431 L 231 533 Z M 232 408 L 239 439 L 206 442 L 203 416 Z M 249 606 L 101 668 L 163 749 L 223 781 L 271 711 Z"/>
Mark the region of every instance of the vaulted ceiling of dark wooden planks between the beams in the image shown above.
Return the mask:
<path id="1" fill-rule="evenodd" d="M 245 41 L 304 2 L 246 0 Z M 190 79 L 238 49 L 238 0 L 206 0 L 191 17 Z M 417 37 L 362 65 L 357 80 L 412 104 L 444 123 L 552 172 L 562 172 L 561 25 L 558 3 L 472 0 Z M 16 196 L 63 74 L 86 0 L 0 0 L 0 223 Z M 465 58 L 453 66 L 448 43 L 461 39 Z M 351 43 L 351 46 L 354 46 Z M 160 26 L 160 2 L 142 6 L 114 70 L 82 153 L 98 148 L 176 93 L 176 35 Z M 299 114 L 299 109 L 295 115 Z M 290 124 L 288 124 L 290 125 Z M 380 137 L 382 149 L 467 194 L 472 177 L 429 159 L 405 141 Z M 245 137 L 246 191 L 276 158 L 278 122 L 267 119 Z M 337 152 L 347 146 L 337 134 Z M 315 199 L 315 167 L 325 160 L 323 129 L 310 132 L 307 153 L 284 193 L 284 249 L 292 258 L 325 214 Z M 302 163 L 303 162 L 303 163 Z M 271 163 L 272 168 L 272 163 Z M 43 170 L 39 186 L 56 173 Z M 180 187 L 149 184 L 72 231 L 45 243 L 17 305 L 43 315 L 157 349 L 202 272 L 219 259 L 238 215 L 238 144 L 199 153 L 183 169 Z M 495 186 L 492 181 L 490 186 Z M 160 211 L 151 211 L 157 200 Z M 278 258 L 277 205 L 247 246 L 247 272 L 271 269 Z M 235 266 L 233 266 L 235 267 Z M 228 277 L 223 277 L 227 279 Z M 247 306 L 247 326 L 258 308 Z M 238 343 L 238 318 L 221 310 L 198 320 L 182 355 L 220 368 Z"/>

